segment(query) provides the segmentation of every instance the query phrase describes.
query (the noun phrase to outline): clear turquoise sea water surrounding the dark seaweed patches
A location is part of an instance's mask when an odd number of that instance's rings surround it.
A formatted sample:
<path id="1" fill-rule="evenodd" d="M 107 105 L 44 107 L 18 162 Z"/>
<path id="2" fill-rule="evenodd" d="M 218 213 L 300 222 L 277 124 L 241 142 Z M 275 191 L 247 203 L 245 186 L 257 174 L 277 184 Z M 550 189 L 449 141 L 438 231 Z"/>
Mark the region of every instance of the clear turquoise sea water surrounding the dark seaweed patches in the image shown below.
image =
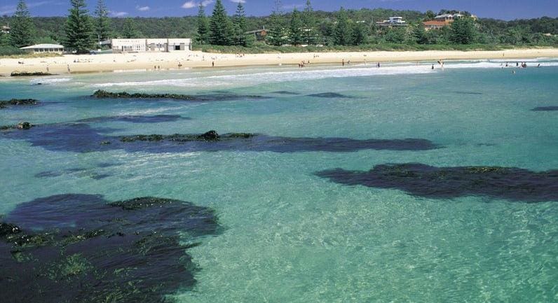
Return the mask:
<path id="1" fill-rule="evenodd" d="M 33 97 L 43 105 L 1 110 L 0 125 L 166 114 L 191 120 L 90 125 L 112 128 L 111 135 L 215 129 L 419 138 L 442 148 L 69 153 L 0 136 L 0 213 L 70 192 L 101 194 L 110 201 L 156 196 L 210 206 L 225 231 L 189 250 L 200 267 L 198 283 L 174 295 L 178 302 L 552 302 L 558 300 L 558 201 L 426 199 L 314 175 L 407 162 L 558 169 L 558 112 L 531 111 L 558 105 L 558 62 L 540 62 L 543 68 L 515 75 L 500 69 L 501 62 L 452 62 L 444 71 L 393 64 L 1 80 L 0 99 Z M 31 85 L 37 82 L 43 85 Z M 97 89 L 219 91 L 268 99 L 188 103 L 87 97 Z M 341 96 L 308 96 L 329 92 Z M 45 171 L 54 174 L 36 176 Z"/>

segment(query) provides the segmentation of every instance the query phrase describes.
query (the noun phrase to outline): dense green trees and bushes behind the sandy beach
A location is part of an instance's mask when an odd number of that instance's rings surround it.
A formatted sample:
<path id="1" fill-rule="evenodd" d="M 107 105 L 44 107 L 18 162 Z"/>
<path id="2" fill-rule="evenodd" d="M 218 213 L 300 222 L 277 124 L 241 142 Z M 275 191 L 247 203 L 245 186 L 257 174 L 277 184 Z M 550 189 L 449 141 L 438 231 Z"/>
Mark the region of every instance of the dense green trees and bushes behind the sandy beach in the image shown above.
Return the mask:
<path id="1" fill-rule="evenodd" d="M 558 46 L 558 18 L 530 20 L 473 20 L 465 17 L 450 27 L 425 31 L 422 22 L 437 13 L 383 8 L 315 11 L 310 0 L 304 10 L 285 13 L 280 1 L 266 17 L 246 17 L 243 3 L 227 15 L 217 0 L 210 16 L 203 6 L 197 16 L 110 18 L 103 0 L 89 15 L 83 0 L 71 0 L 68 17 L 29 17 L 24 1 L 13 16 L 0 17 L 10 24 L 10 35 L 0 36 L 0 55 L 18 54 L 18 47 L 32 43 L 64 43 L 86 52 L 95 42 L 112 37 L 192 37 L 195 48 L 238 52 L 300 52 L 329 50 L 470 50 L 529 46 Z M 456 13 L 442 10 L 438 13 Z M 468 12 L 461 12 L 470 15 Z M 378 27 L 377 21 L 401 16 L 408 27 Z M 255 42 L 247 31 L 266 29 L 265 41 Z M 283 45 L 283 46 L 282 46 Z M 302 48 L 300 45 L 308 45 Z"/>

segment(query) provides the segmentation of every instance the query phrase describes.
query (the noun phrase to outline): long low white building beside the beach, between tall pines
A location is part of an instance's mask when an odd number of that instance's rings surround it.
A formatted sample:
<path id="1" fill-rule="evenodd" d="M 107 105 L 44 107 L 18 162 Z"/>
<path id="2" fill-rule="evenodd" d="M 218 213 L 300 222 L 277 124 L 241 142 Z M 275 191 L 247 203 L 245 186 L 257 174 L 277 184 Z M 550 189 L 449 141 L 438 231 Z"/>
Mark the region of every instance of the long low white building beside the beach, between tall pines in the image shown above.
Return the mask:
<path id="1" fill-rule="evenodd" d="M 192 49 L 191 39 L 112 39 L 113 52 L 175 52 Z"/>

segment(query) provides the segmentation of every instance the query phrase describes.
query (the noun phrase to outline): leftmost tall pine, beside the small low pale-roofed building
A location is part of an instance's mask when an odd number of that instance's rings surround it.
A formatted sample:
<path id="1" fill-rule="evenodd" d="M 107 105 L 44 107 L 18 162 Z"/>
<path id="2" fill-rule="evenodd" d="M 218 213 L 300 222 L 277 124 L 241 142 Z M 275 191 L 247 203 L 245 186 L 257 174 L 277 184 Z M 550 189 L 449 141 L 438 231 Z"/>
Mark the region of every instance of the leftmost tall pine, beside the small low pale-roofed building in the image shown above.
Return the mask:
<path id="1" fill-rule="evenodd" d="M 10 43 L 16 48 L 32 45 L 34 42 L 35 25 L 29 15 L 29 10 L 25 1 L 18 2 L 18 8 L 13 15 L 13 22 L 10 31 Z"/>

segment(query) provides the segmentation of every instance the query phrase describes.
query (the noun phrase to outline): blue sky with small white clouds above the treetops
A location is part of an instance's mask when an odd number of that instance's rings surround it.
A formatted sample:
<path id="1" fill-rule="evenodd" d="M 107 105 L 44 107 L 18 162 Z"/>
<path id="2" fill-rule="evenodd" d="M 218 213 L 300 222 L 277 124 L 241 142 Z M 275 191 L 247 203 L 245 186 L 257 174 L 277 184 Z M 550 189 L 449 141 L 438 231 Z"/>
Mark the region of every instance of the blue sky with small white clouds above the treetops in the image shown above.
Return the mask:
<path id="1" fill-rule="evenodd" d="M 113 17 L 175 17 L 196 15 L 198 3 L 207 5 L 207 13 L 215 0 L 105 0 Z M 229 14 L 233 14 L 238 2 L 245 5 L 247 15 L 269 15 L 275 0 L 222 0 Z M 69 0 L 27 0 L 33 16 L 67 15 Z M 86 0 L 91 12 L 97 0 Z M 303 8 L 306 0 L 282 0 L 283 10 Z M 12 15 L 18 0 L 1 0 L 0 15 Z M 393 8 L 404 10 L 433 10 L 442 8 L 468 10 L 479 17 L 513 20 L 531 17 L 558 17 L 558 0 L 313 0 L 315 10 L 338 10 L 345 8 Z"/>

